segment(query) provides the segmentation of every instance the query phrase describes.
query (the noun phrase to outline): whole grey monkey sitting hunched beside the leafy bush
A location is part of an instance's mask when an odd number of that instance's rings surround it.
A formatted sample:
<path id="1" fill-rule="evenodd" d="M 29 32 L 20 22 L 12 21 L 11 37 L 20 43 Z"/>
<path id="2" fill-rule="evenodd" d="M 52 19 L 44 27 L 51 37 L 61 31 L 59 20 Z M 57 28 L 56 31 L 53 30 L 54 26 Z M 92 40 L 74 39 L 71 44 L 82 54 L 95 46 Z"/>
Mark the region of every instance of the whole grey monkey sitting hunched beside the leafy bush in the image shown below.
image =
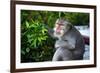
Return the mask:
<path id="1" fill-rule="evenodd" d="M 80 32 L 65 19 L 57 19 L 54 30 L 48 29 L 52 37 L 58 38 L 53 61 L 81 60 L 85 44 Z"/>

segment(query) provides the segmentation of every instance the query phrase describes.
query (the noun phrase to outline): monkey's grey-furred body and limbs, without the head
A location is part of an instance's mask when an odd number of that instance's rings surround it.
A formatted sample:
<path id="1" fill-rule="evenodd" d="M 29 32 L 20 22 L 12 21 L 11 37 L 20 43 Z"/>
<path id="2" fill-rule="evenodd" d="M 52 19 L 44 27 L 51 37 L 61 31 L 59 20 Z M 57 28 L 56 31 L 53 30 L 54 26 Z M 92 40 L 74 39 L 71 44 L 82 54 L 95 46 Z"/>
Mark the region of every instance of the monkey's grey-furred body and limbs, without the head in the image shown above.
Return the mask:
<path id="1" fill-rule="evenodd" d="M 54 37 L 54 32 L 49 34 Z M 55 43 L 56 51 L 53 61 L 81 60 L 85 50 L 85 44 L 80 32 L 72 25 L 70 29 Z"/>

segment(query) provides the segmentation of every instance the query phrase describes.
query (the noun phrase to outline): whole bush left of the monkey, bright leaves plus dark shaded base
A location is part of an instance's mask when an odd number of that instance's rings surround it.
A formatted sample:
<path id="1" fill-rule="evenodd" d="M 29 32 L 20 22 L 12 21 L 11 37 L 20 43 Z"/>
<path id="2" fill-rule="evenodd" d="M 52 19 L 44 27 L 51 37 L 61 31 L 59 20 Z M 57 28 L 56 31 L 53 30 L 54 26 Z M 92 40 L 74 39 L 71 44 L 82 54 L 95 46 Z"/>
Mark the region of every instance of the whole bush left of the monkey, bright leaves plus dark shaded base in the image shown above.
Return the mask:
<path id="1" fill-rule="evenodd" d="M 53 47 L 49 46 L 50 39 L 44 24 L 37 21 L 25 21 L 21 31 L 22 62 L 48 61 L 52 59 Z"/>

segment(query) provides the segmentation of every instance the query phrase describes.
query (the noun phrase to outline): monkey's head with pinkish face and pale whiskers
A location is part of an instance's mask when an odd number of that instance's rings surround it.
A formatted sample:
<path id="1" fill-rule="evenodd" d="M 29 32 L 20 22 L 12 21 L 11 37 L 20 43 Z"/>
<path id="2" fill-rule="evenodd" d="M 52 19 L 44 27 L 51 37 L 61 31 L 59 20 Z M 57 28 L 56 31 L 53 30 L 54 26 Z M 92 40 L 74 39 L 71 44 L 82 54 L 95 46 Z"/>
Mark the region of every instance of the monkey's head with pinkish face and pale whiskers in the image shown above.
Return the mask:
<path id="1" fill-rule="evenodd" d="M 55 22 L 55 27 L 54 27 L 54 36 L 55 37 L 62 37 L 71 27 L 71 23 L 69 23 L 65 19 L 57 19 Z"/>

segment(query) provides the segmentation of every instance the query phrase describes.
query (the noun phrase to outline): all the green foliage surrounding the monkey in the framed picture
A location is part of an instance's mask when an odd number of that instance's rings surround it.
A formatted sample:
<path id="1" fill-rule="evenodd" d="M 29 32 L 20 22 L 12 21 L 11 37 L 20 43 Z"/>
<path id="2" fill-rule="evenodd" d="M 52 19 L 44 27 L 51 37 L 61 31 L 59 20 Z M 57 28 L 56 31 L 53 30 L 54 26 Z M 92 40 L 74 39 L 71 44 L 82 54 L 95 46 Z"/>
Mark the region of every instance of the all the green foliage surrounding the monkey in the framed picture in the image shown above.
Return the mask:
<path id="1" fill-rule="evenodd" d="M 88 25 L 89 13 L 21 10 L 21 62 L 51 61 L 55 39 L 45 25 L 53 28 L 58 18 L 66 18 L 73 25 Z"/>

